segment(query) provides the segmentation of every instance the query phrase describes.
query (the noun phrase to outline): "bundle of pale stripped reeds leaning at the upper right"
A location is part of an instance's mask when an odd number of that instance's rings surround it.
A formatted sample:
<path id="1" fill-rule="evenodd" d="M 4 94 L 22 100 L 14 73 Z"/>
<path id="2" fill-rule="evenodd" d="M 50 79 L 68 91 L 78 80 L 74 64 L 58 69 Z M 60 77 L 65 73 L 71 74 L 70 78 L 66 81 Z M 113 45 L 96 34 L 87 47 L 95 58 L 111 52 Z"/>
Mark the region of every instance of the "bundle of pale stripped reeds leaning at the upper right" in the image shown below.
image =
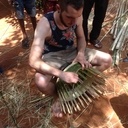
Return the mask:
<path id="1" fill-rule="evenodd" d="M 128 38 L 128 1 L 119 1 L 119 7 L 110 32 L 113 35 L 113 43 L 110 50 L 113 51 L 113 64 L 118 65 L 121 60 L 123 46 Z"/>

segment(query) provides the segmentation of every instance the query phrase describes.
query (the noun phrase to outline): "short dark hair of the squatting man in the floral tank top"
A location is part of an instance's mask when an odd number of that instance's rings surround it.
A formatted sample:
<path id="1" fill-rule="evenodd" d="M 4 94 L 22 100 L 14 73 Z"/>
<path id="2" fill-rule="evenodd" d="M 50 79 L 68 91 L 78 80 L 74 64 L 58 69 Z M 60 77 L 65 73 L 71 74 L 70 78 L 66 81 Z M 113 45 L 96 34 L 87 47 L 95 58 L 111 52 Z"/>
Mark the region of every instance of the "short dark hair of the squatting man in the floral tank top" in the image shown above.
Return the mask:
<path id="1" fill-rule="evenodd" d="M 58 0 L 58 4 L 62 10 L 66 10 L 68 5 L 72 6 L 76 10 L 79 10 L 84 7 L 84 0 Z"/>

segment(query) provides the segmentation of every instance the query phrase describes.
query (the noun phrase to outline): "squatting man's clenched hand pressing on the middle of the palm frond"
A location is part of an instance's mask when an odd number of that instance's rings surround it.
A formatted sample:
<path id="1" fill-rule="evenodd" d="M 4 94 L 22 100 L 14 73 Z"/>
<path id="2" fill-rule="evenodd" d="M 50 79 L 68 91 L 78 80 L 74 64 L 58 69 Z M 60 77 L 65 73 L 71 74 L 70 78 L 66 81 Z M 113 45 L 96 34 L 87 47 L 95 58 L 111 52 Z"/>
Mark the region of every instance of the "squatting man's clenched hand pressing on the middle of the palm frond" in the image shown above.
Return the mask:
<path id="1" fill-rule="evenodd" d="M 79 80 L 78 74 L 74 72 L 61 72 L 59 78 L 66 83 L 77 83 Z"/>

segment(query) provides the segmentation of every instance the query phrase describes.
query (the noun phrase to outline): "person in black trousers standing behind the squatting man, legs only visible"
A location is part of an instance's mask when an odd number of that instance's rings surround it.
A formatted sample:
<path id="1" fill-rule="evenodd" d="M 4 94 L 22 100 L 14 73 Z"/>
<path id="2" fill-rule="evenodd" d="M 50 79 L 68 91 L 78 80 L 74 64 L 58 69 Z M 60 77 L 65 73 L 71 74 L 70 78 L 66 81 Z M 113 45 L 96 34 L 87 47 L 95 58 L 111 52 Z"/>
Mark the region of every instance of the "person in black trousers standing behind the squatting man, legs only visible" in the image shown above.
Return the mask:
<path id="1" fill-rule="evenodd" d="M 95 48 L 102 48 L 101 42 L 98 37 L 101 32 L 102 23 L 104 21 L 109 0 L 84 0 L 84 10 L 83 10 L 83 29 L 85 33 L 86 41 L 90 42 Z M 94 19 L 92 23 L 92 30 L 88 39 L 88 18 L 90 12 L 94 7 Z"/>

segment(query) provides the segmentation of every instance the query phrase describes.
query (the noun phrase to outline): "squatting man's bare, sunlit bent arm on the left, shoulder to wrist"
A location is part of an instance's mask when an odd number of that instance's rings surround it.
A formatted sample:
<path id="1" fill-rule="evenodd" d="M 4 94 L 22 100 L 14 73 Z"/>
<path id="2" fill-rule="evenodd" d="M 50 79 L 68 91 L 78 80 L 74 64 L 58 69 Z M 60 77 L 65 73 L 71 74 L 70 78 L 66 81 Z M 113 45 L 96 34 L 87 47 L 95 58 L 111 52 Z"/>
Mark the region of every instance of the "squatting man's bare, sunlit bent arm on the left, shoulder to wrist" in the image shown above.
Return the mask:
<path id="1" fill-rule="evenodd" d="M 49 66 L 42 60 L 42 53 L 44 50 L 44 41 L 51 36 L 51 30 L 46 18 L 42 18 L 35 30 L 34 41 L 31 47 L 29 63 L 30 66 L 38 72 L 59 77 L 61 71 Z"/>

